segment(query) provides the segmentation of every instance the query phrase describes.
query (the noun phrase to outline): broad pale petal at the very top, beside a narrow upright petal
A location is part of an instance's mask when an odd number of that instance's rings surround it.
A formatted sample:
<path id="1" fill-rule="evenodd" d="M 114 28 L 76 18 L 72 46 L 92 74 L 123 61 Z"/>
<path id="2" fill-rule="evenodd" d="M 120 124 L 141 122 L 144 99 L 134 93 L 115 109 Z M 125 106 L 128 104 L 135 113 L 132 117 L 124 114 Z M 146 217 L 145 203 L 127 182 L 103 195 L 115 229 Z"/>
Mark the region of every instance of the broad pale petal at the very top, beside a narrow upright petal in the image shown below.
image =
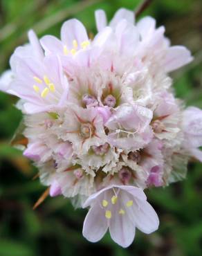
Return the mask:
<path id="1" fill-rule="evenodd" d="M 125 8 L 120 8 L 111 19 L 110 26 L 116 26 L 121 19 L 126 19 L 129 23 L 134 24 L 135 16 L 134 12 Z"/>

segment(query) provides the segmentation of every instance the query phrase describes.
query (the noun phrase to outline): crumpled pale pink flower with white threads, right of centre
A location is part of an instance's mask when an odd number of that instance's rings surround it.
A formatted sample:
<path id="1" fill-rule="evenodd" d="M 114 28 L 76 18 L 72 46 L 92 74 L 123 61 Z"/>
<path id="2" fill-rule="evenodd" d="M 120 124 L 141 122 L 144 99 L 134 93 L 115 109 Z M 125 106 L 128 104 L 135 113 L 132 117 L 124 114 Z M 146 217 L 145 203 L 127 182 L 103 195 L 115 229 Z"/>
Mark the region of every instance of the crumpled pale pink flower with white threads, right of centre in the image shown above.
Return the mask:
<path id="1" fill-rule="evenodd" d="M 137 150 L 152 139 L 149 123 L 152 111 L 138 104 L 122 104 L 107 123 L 109 143 L 127 150 Z"/>

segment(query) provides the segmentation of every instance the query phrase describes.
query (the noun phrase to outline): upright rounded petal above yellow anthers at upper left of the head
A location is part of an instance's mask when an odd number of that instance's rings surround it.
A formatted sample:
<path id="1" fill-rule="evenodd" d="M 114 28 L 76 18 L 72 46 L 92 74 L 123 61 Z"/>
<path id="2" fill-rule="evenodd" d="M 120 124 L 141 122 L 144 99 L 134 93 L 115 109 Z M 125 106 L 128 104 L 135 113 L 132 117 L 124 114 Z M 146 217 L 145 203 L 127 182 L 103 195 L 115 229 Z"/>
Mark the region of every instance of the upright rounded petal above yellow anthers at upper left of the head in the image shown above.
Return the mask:
<path id="1" fill-rule="evenodd" d="M 67 48 L 71 49 L 73 48 L 73 40 L 76 40 L 77 44 L 80 45 L 82 42 L 89 40 L 89 37 L 86 28 L 80 21 L 70 19 L 62 25 L 61 39 Z"/>

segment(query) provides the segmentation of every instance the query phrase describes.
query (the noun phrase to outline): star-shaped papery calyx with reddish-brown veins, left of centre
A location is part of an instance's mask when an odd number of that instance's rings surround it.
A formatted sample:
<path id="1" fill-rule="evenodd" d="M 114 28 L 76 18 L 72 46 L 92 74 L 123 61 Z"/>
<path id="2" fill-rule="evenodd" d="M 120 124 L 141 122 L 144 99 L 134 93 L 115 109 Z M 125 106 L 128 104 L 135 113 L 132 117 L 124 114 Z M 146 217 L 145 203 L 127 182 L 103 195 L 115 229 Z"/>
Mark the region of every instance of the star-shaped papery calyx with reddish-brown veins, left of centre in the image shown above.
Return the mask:
<path id="1" fill-rule="evenodd" d="M 72 143 L 75 154 L 84 154 L 91 146 L 107 142 L 103 123 L 97 109 L 69 105 L 64 112 L 64 122 L 56 132 L 60 138 Z"/>

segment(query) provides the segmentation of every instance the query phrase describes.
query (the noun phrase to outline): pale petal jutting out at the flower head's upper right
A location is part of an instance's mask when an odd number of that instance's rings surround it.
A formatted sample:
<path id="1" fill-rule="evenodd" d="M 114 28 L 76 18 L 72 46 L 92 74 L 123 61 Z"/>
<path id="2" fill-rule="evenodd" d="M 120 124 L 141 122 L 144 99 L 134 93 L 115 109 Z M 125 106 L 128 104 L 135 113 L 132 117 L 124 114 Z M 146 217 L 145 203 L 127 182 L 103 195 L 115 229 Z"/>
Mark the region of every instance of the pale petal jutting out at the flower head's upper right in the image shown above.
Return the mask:
<path id="1" fill-rule="evenodd" d="M 168 49 L 167 55 L 165 57 L 165 71 L 174 71 L 177 68 L 181 68 L 190 62 L 192 62 L 193 57 L 190 51 L 184 46 L 172 46 Z"/>

